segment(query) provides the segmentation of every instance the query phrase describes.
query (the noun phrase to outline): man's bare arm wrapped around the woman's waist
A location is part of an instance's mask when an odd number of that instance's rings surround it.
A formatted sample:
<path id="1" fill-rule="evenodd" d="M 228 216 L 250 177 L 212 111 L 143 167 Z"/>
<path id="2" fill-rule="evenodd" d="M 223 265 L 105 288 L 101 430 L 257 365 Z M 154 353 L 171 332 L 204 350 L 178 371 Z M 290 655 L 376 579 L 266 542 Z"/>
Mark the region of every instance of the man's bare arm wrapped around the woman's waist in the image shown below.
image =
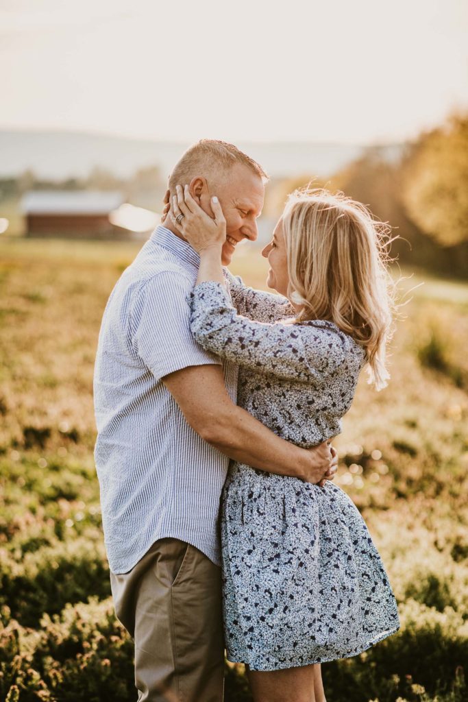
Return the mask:
<path id="1" fill-rule="evenodd" d="M 325 442 L 301 449 L 276 436 L 246 410 L 236 406 L 225 388 L 220 366 L 188 366 L 163 378 L 187 423 L 208 444 L 265 472 L 318 483 L 333 477 L 336 455 Z"/>

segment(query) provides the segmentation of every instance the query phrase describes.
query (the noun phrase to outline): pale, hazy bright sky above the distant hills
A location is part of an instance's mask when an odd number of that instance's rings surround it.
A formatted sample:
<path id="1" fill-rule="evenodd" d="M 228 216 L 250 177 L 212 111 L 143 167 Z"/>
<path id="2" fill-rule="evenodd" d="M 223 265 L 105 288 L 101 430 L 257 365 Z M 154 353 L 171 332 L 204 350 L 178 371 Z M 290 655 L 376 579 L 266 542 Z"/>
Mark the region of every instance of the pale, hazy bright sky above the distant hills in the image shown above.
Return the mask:
<path id="1" fill-rule="evenodd" d="M 391 143 L 468 109 L 466 0 L 0 0 L 0 128 Z"/>

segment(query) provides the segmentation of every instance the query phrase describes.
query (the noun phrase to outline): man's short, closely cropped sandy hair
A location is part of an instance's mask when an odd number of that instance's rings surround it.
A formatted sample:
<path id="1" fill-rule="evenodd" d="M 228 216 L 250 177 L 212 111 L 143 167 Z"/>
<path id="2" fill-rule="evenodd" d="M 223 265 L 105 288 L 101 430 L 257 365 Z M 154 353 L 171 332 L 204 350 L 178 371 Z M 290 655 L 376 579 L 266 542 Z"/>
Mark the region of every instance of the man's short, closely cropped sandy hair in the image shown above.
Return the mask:
<path id="1" fill-rule="evenodd" d="M 175 164 L 169 176 L 169 188 L 189 183 L 195 176 L 203 176 L 206 171 L 224 171 L 227 173 L 235 164 L 246 166 L 262 180 L 268 180 L 262 166 L 250 158 L 234 144 L 215 139 L 201 139 L 189 147 L 180 161 Z"/>

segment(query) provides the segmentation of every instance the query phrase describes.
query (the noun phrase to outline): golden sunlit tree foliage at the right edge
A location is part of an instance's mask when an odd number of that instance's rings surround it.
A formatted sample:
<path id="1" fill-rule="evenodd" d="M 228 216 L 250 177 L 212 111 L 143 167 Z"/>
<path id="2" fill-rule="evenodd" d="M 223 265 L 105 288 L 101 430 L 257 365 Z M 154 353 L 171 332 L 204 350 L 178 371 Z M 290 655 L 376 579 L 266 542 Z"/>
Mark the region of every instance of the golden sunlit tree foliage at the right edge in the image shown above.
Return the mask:
<path id="1" fill-rule="evenodd" d="M 468 114 L 423 133 L 403 166 L 403 203 L 443 246 L 468 241 Z"/>

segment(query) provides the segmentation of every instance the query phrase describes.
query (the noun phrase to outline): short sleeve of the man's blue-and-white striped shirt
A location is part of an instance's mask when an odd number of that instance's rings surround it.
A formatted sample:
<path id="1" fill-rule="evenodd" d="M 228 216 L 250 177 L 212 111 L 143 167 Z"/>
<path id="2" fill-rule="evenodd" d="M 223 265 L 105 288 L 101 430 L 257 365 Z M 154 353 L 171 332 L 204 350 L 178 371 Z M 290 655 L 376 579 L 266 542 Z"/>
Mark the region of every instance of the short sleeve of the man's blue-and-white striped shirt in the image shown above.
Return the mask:
<path id="1" fill-rule="evenodd" d="M 188 366 L 220 364 L 190 331 L 187 293 L 192 282 L 163 271 L 140 288 L 131 312 L 133 350 L 156 379 Z"/>

